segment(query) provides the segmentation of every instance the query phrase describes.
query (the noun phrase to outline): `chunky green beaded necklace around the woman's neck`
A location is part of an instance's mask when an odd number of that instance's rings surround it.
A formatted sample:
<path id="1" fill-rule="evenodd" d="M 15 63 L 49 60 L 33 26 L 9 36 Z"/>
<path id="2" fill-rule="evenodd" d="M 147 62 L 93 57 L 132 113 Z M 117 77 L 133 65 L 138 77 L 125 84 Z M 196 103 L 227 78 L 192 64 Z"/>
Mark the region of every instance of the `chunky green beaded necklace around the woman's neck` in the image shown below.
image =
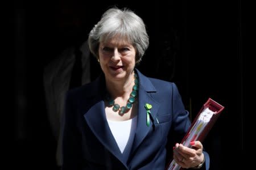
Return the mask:
<path id="1" fill-rule="evenodd" d="M 139 81 L 138 81 L 138 76 L 136 73 L 134 73 L 134 86 L 133 86 L 133 91 L 130 94 L 130 97 L 127 101 L 126 106 L 120 107 L 119 104 L 115 103 L 115 101 L 110 97 L 109 94 L 106 94 L 106 101 L 108 101 L 108 107 L 113 107 L 112 110 L 114 112 L 119 111 L 120 115 L 123 115 L 124 113 L 126 113 L 127 111 L 129 111 L 129 109 L 131 109 L 131 107 L 133 107 L 133 103 L 138 95 L 138 88 L 139 87 Z"/>

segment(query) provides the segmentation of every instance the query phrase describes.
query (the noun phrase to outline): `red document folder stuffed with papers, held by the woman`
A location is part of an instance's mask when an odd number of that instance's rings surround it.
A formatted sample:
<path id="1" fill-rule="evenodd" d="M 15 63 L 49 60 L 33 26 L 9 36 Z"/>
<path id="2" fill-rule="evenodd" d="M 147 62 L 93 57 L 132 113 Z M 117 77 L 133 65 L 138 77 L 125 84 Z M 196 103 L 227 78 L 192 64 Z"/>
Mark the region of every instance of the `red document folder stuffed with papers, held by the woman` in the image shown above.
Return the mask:
<path id="1" fill-rule="evenodd" d="M 214 113 L 213 113 L 213 116 L 210 118 L 209 122 L 207 123 L 207 125 L 205 125 L 204 129 L 201 131 L 200 135 L 196 139 L 196 141 L 200 141 L 200 142 L 204 141 L 204 139 L 207 136 L 207 134 L 209 133 L 210 129 L 212 129 L 212 126 L 216 122 L 218 116 L 220 116 L 220 113 L 224 109 L 224 107 L 222 105 L 218 104 L 216 101 L 209 98 L 207 100 L 207 102 L 203 105 L 203 107 L 200 109 L 200 111 L 197 114 L 197 116 L 195 117 L 195 119 L 193 120 L 191 126 L 189 127 L 189 129 L 187 131 L 187 134 L 185 134 L 185 137 L 182 139 L 181 143 L 183 143 L 185 140 L 187 140 L 188 136 L 191 134 L 192 127 L 197 122 L 197 119 L 199 118 L 200 114 L 206 108 L 209 108 L 209 110 L 214 112 Z M 193 138 L 191 139 L 191 141 L 194 141 Z M 190 143 L 191 141 L 188 141 L 188 142 Z M 168 163 L 168 165 L 166 167 L 166 170 L 177 169 L 177 165 L 176 165 L 176 168 L 174 168 L 173 163 L 174 163 L 174 160 L 171 160 L 170 163 Z M 178 169 L 180 169 L 180 168 L 178 168 Z"/>

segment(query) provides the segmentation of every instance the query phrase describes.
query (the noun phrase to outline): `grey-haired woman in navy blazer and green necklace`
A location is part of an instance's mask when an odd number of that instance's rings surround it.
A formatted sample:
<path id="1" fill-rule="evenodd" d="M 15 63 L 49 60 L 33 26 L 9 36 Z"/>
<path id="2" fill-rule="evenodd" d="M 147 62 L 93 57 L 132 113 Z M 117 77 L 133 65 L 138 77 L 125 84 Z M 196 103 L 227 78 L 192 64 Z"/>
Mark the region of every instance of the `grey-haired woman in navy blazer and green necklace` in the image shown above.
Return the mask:
<path id="1" fill-rule="evenodd" d="M 199 141 L 177 143 L 191 123 L 175 84 L 135 69 L 148 47 L 142 19 L 110 8 L 88 42 L 104 74 L 67 94 L 62 169 L 164 169 L 172 146 L 181 167 L 208 169 Z"/>

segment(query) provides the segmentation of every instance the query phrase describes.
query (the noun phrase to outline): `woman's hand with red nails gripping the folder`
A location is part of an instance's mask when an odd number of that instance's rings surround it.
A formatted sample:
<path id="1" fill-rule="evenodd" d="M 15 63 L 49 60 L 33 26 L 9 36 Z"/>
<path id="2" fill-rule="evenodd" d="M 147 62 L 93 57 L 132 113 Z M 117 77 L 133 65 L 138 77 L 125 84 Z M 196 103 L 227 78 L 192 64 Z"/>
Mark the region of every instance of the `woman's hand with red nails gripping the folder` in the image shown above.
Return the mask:
<path id="1" fill-rule="evenodd" d="M 182 168 L 193 168 L 204 161 L 203 145 L 200 141 L 192 141 L 192 148 L 176 143 L 174 147 L 174 160 Z"/>

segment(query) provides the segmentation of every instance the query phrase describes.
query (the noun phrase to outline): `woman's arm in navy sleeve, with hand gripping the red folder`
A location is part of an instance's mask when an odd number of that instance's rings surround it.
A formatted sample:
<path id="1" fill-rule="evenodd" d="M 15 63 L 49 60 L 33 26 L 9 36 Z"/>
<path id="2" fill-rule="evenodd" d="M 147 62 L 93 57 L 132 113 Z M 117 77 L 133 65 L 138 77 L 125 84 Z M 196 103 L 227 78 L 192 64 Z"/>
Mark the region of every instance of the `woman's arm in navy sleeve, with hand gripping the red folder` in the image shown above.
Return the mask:
<path id="1" fill-rule="evenodd" d="M 203 151 L 203 145 L 200 141 L 195 141 L 192 148 L 185 147 L 177 142 L 181 142 L 185 133 L 191 126 L 188 112 L 185 111 L 181 96 L 175 84 L 172 88 L 172 112 L 173 125 L 171 135 L 174 135 L 173 141 L 176 143 L 174 147 L 174 159 L 177 164 L 183 168 L 195 168 L 199 165 L 200 169 L 209 169 L 209 155 Z M 201 164 L 203 163 L 203 164 Z M 201 164 L 201 165 L 200 165 Z"/>

